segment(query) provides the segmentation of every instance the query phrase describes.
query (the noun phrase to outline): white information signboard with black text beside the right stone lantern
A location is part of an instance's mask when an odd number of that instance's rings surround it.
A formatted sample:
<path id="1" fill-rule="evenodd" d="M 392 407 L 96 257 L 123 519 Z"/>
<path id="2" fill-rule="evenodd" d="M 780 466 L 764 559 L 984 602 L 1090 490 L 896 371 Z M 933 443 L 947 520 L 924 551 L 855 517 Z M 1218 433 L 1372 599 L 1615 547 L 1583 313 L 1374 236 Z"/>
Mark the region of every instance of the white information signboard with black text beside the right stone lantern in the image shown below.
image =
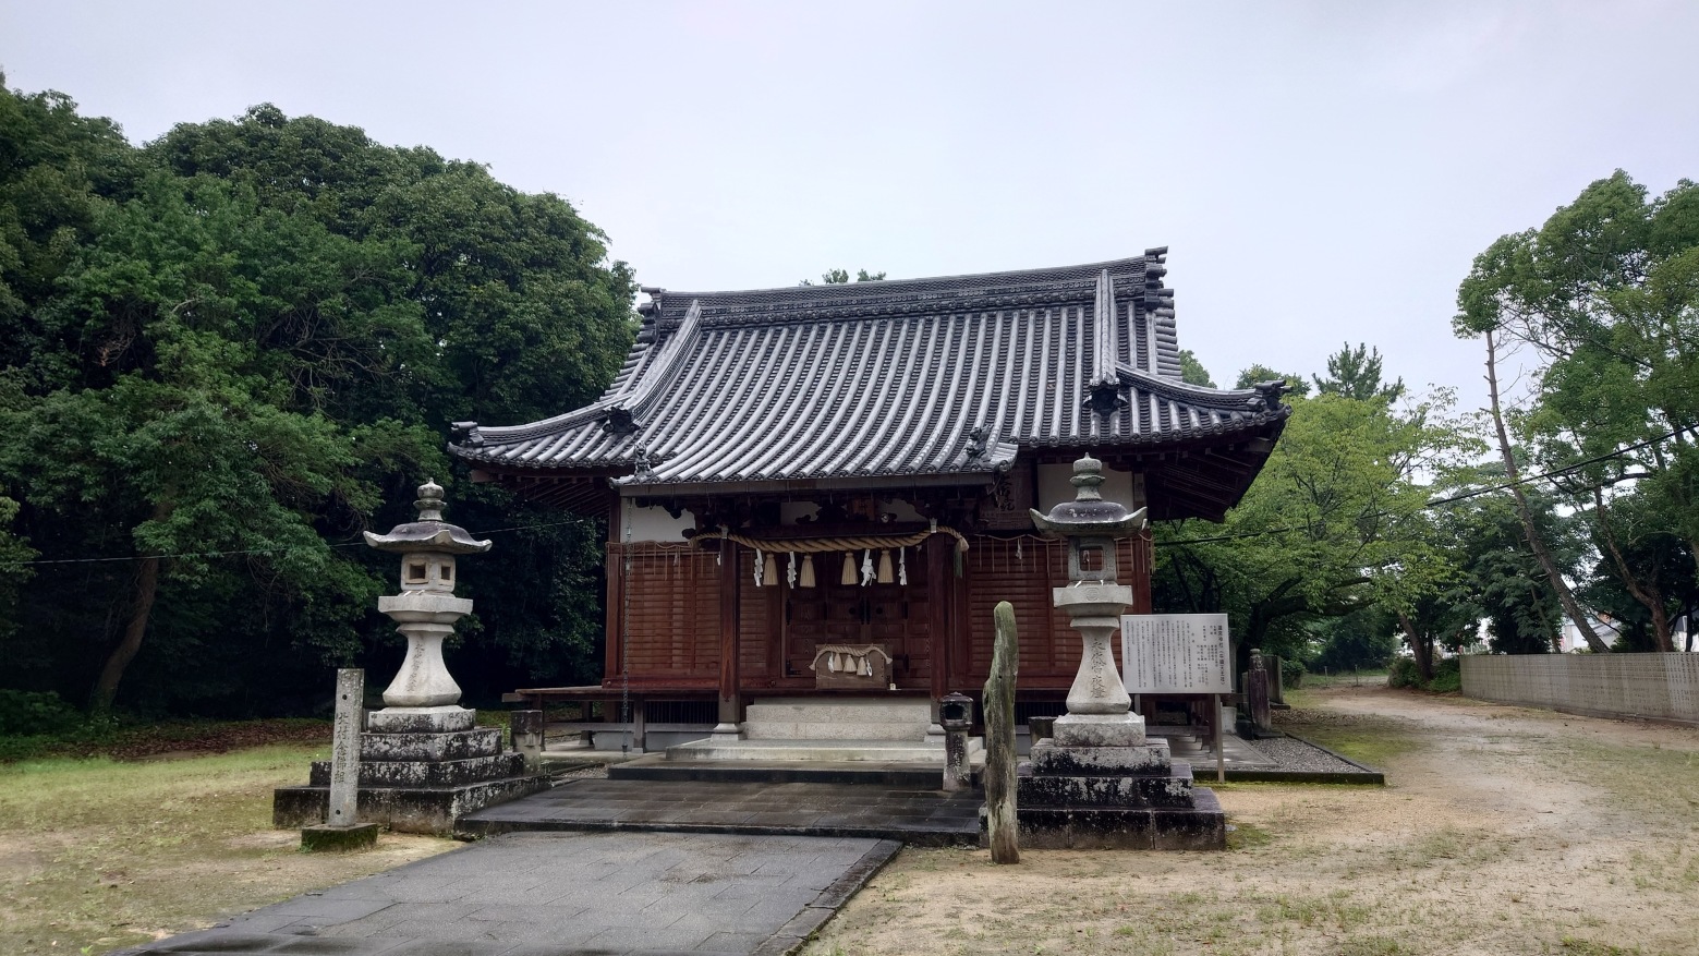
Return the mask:
<path id="1" fill-rule="evenodd" d="M 1121 615 L 1130 695 L 1230 695 L 1227 615 Z"/>

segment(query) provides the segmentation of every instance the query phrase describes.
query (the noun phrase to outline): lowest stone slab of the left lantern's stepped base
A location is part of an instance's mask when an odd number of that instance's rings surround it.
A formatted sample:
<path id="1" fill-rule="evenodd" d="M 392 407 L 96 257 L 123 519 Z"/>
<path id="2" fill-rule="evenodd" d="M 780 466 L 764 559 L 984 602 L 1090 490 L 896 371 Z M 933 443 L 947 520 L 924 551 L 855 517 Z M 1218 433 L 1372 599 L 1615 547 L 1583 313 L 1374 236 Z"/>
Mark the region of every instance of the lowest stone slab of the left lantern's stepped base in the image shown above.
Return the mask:
<path id="1" fill-rule="evenodd" d="M 549 788 L 545 776 L 518 776 L 443 788 L 360 788 L 362 822 L 403 834 L 454 834 L 457 817 Z M 325 818 L 328 786 L 280 786 L 272 791 L 272 825 L 309 827 Z"/>

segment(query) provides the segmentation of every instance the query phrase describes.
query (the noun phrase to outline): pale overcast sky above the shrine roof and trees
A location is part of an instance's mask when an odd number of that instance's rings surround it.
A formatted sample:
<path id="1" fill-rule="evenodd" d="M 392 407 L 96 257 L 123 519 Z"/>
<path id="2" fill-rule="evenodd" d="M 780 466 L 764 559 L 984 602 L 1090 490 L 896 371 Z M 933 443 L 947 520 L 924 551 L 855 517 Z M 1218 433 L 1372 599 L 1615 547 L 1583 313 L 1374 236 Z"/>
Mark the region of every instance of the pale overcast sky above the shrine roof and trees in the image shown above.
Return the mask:
<path id="1" fill-rule="evenodd" d="M 792 285 L 1169 246 L 1222 385 L 1451 336 L 1504 233 L 1699 177 L 1699 3 L 0 0 L 0 70 L 133 141 L 262 102 L 569 199 L 644 284 Z"/>

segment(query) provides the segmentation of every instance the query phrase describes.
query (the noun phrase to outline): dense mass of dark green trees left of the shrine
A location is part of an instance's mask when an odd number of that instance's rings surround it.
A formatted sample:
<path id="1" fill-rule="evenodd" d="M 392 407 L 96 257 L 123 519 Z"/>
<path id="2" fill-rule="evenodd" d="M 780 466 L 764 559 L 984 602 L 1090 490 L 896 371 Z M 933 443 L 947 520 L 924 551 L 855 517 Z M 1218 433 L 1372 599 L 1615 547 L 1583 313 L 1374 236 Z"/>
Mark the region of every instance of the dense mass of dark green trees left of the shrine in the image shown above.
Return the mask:
<path id="1" fill-rule="evenodd" d="M 452 484 L 445 425 L 573 408 L 629 343 L 630 273 L 601 234 L 474 163 L 272 107 L 144 149 L 63 97 L 3 95 L 0 122 L 63 168 L 31 178 L 59 183 L 58 205 L 0 195 L 0 229 L 63 209 L 53 229 L 0 233 L 24 250 L 0 253 L 15 438 L 0 481 L 31 543 L 66 562 L 37 565 L 15 608 L 29 667 L 10 681 L 92 684 L 95 705 L 136 688 L 133 703 L 287 710 L 325 661 L 394 644 L 370 613 L 391 569 L 350 545 L 404 518 L 423 477 Z M 76 173 L 102 156 L 131 173 Z M 467 628 L 471 683 L 576 676 L 596 528 L 479 486 L 452 516 L 539 525 L 467 579 L 503 598 Z"/>

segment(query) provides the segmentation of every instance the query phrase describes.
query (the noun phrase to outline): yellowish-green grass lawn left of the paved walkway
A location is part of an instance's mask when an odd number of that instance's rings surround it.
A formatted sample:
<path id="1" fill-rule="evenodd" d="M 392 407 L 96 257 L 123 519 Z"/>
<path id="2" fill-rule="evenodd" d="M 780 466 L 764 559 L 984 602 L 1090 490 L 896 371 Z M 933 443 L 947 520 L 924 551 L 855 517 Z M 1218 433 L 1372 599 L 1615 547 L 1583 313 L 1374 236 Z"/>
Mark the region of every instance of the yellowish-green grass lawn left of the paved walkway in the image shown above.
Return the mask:
<path id="1" fill-rule="evenodd" d="M 457 846 L 386 834 L 377 851 L 302 854 L 272 790 L 328 747 L 0 764 L 0 953 L 105 953 Z"/>

